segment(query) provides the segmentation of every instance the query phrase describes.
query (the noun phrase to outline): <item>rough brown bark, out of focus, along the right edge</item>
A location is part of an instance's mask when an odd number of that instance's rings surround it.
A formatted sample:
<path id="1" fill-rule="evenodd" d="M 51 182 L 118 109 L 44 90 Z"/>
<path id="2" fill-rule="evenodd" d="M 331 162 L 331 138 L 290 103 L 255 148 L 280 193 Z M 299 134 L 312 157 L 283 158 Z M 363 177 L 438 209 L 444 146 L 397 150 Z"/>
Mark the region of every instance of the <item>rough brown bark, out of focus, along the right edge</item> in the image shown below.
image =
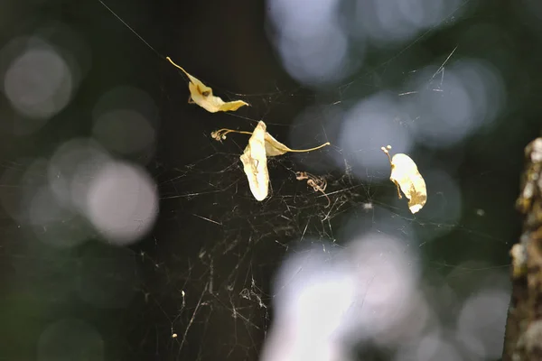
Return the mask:
<path id="1" fill-rule="evenodd" d="M 527 165 L 517 201 L 524 215 L 512 256 L 512 297 L 503 361 L 542 360 L 542 138 L 525 148 Z"/>

